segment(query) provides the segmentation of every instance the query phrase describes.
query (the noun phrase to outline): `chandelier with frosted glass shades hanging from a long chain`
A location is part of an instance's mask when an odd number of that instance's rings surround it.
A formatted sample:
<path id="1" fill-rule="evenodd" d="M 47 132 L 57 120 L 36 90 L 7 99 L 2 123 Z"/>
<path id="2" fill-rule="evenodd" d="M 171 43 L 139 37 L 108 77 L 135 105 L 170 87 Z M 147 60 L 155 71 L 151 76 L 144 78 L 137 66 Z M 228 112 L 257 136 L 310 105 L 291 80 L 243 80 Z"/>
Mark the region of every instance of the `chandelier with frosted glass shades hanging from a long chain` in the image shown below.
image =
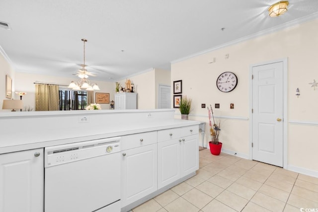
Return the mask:
<path id="1" fill-rule="evenodd" d="M 85 42 L 87 42 L 86 39 L 81 39 L 81 41 L 83 41 L 84 43 L 84 54 L 83 54 L 83 64 L 81 64 L 81 69 L 79 69 L 78 73 L 76 74 L 77 76 L 79 76 L 79 81 L 75 82 L 75 81 L 71 81 L 70 85 L 68 86 L 69 88 L 72 88 L 72 90 L 81 90 L 81 89 L 85 89 L 85 90 L 99 90 L 99 87 L 97 84 L 91 84 L 90 85 L 90 81 L 87 79 L 88 75 L 94 75 L 90 72 L 88 72 L 85 68 L 87 65 L 85 65 Z"/>

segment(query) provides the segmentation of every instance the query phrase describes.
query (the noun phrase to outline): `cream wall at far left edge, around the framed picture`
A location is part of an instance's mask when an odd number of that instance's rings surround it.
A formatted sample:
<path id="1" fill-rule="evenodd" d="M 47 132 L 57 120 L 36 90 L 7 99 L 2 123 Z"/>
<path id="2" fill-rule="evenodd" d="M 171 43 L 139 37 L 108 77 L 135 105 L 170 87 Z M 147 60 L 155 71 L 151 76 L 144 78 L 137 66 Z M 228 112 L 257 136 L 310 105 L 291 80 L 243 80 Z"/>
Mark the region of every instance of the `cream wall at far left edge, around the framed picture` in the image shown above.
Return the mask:
<path id="1" fill-rule="evenodd" d="M 0 110 L 2 110 L 2 100 L 5 98 L 5 75 L 8 74 L 12 79 L 12 93 L 14 93 L 14 84 L 15 84 L 15 71 L 11 65 L 4 59 L 0 53 Z M 12 98 L 14 95 L 12 94 Z M 6 110 L 5 110 L 6 111 Z"/>

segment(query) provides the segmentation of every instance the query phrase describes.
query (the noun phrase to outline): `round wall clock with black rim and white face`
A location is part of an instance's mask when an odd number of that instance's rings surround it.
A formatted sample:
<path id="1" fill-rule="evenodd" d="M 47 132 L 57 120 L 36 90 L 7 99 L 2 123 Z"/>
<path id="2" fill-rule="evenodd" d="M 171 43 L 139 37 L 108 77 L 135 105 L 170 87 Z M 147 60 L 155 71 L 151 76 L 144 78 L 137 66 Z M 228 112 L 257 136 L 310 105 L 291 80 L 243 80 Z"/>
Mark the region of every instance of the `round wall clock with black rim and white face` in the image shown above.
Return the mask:
<path id="1" fill-rule="evenodd" d="M 230 92 L 238 84 L 238 77 L 233 72 L 221 73 L 217 79 L 217 87 L 222 92 Z"/>

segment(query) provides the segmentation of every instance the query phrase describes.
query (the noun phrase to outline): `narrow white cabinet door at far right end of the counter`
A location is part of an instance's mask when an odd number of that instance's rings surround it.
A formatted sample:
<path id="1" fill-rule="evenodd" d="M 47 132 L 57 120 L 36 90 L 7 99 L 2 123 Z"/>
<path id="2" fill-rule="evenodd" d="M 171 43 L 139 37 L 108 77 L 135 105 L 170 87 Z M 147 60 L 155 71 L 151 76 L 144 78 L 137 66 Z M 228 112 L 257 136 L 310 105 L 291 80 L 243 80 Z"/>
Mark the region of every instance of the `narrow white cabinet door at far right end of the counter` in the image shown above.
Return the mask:
<path id="1" fill-rule="evenodd" d="M 198 135 L 182 138 L 181 145 L 181 177 L 199 169 Z"/>

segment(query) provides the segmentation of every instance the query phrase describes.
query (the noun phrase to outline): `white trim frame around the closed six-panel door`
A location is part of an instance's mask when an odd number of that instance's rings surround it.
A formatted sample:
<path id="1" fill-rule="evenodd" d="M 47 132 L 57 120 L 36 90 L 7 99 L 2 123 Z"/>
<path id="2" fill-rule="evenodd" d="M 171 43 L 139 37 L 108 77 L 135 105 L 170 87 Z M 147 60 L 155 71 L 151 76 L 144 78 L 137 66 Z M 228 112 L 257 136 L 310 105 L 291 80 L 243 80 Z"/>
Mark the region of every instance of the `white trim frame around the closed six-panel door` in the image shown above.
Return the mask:
<path id="1" fill-rule="evenodd" d="M 252 151 L 252 139 L 253 139 L 253 121 L 252 121 L 252 71 L 253 67 L 263 66 L 267 64 L 283 62 L 283 168 L 287 168 L 288 165 L 288 58 L 277 59 L 257 64 L 251 64 L 249 66 L 249 150 L 248 150 L 248 159 L 253 159 Z"/>

